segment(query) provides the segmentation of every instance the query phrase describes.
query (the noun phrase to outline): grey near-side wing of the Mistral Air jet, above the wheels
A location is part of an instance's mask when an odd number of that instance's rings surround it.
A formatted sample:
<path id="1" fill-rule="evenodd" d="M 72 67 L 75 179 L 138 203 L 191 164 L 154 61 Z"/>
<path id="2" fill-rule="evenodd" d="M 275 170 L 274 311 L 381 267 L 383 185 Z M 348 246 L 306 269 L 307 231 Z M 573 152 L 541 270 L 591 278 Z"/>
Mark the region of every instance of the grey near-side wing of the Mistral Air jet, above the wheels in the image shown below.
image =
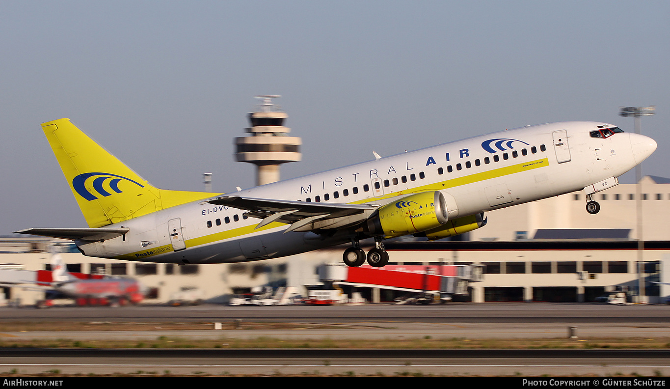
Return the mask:
<path id="1" fill-rule="evenodd" d="M 291 224 L 285 232 L 311 229 L 339 229 L 360 223 L 379 207 L 379 204 L 308 203 L 271 199 L 252 199 L 240 196 L 222 196 L 205 203 L 245 209 L 247 216 L 263 219 L 256 228 L 273 221 Z"/>

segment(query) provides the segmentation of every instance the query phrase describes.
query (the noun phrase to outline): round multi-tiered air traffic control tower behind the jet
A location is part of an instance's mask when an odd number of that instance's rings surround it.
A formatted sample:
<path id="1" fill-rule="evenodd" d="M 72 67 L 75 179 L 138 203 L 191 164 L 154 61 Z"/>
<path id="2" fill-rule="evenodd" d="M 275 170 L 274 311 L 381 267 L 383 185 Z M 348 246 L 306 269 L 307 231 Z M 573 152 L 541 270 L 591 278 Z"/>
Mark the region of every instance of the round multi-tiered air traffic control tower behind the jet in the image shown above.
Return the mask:
<path id="1" fill-rule="evenodd" d="M 249 113 L 251 127 L 246 131 L 251 135 L 235 138 L 235 158 L 239 162 L 255 164 L 256 184 L 263 185 L 279 181 L 280 164 L 301 160 L 302 140 L 287 135 L 291 129 L 283 123 L 288 115 L 272 103 L 273 98 L 281 96 L 255 97 L 263 99 L 263 103 L 256 106 L 255 112 Z"/>

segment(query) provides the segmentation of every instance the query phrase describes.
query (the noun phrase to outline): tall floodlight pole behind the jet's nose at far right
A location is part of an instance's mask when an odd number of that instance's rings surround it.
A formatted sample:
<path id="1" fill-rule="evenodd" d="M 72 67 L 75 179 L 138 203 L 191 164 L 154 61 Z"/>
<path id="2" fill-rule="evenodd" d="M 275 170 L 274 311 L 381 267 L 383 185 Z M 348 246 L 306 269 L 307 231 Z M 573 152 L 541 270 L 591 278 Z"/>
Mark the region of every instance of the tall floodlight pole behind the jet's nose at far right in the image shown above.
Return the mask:
<path id="1" fill-rule="evenodd" d="M 642 116 L 651 116 L 656 111 L 656 106 L 649 107 L 620 107 L 619 115 L 623 117 L 634 117 L 635 133 L 641 133 Z M 635 208 L 637 219 L 637 285 L 638 285 L 638 302 L 646 302 L 645 291 L 645 240 L 643 239 L 643 223 L 642 223 L 642 164 L 635 166 Z M 645 299 L 645 301 L 643 301 Z"/>

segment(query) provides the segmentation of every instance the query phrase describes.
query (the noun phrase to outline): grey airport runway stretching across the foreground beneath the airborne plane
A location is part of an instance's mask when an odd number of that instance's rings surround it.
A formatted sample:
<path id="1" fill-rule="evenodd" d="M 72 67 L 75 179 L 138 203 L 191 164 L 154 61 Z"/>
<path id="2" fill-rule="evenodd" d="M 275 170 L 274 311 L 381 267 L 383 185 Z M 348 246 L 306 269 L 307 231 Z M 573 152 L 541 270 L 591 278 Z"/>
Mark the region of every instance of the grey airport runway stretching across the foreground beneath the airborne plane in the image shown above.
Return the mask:
<path id="1" fill-rule="evenodd" d="M 71 307 L 0 309 L 0 321 L 322 323 L 326 329 L 3 332 L 10 339 L 542 339 L 668 337 L 670 307 L 607 304 L 447 304 L 352 307 Z M 213 324 L 212 324 L 213 328 Z M 225 347 L 225 346 L 223 346 Z M 88 354 L 87 354 L 88 353 Z M 92 353 L 98 353 L 93 355 Z M 0 352 L 0 372 L 111 374 L 670 375 L 670 353 L 606 349 L 21 349 Z"/>

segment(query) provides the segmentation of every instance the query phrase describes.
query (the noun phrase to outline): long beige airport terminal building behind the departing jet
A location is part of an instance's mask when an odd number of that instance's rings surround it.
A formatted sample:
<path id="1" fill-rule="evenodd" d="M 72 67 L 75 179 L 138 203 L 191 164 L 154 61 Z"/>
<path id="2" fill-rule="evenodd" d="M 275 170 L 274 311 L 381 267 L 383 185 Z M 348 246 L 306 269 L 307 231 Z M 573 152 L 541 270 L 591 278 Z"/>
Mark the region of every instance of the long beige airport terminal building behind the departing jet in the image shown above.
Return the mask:
<path id="1" fill-rule="evenodd" d="M 645 295 L 640 300 L 665 302 L 670 286 L 654 282 L 670 281 L 664 276 L 670 272 L 665 268 L 670 260 L 666 223 L 670 180 L 646 176 L 639 185 L 619 184 L 594 194 L 594 200 L 602 207 L 596 215 L 587 213 L 584 194 L 577 192 L 487 213 L 484 227 L 459 235 L 458 240 L 390 241 L 386 243 L 389 264 L 426 266 L 427 272 L 443 265 L 485 265 L 482 280 L 470 283 L 470 296 L 461 298 L 472 302 L 588 302 L 614 290 L 632 297 L 638 294 L 639 280 Z M 79 254 L 68 241 L 7 237 L 0 239 L 0 268 L 48 269 L 53 245 L 64 252 L 68 270 L 137 278 L 153 291 L 145 301 L 156 303 L 189 290 L 197 290 L 203 300 L 226 302 L 231 294 L 255 286 L 295 286 L 306 295 L 307 288 L 328 284 L 320 279 L 318 269 L 322 264 L 340 263 L 344 249 L 259 262 L 177 266 L 91 258 Z M 381 292 L 370 289 L 357 288 L 374 302 L 391 301 L 401 294 L 384 286 L 379 287 Z M 44 292 L 36 290 L 15 286 L 2 290 L 6 300 L 22 304 L 44 298 Z"/>

